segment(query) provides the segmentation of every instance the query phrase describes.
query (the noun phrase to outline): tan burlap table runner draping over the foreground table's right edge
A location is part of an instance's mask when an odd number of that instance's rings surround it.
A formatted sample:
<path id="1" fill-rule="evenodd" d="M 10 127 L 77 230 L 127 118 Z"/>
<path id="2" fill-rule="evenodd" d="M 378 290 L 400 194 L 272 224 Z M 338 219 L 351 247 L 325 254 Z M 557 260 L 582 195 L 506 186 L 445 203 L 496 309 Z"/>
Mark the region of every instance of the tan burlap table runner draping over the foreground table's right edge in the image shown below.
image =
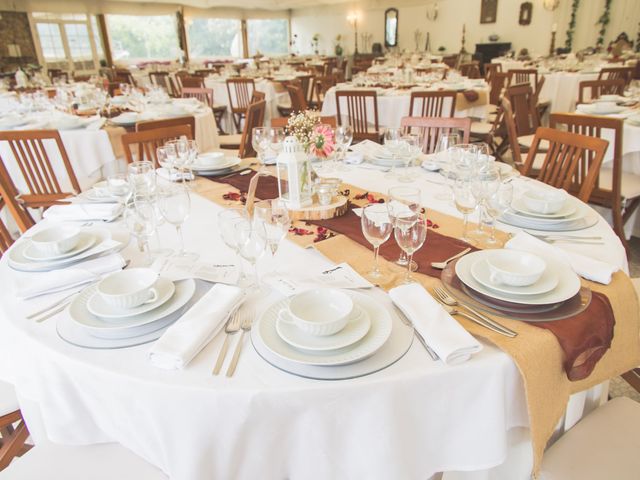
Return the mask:
<path id="1" fill-rule="evenodd" d="M 238 184 L 237 181 L 234 183 Z M 198 193 L 206 198 L 222 205 L 234 203 L 223 199 L 223 194 L 233 188 L 230 185 L 203 179 L 199 179 L 196 184 Z M 351 194 L 355 194 L 355 196 L 361 196 L 364 193 L 356 187 L 350 186 L 349 189 Z M 264 193 L 270 194 L 273 191 L 267 189 Z M 272 197 L 264 198 L 275 198 L 276 196 L 277 193 Z M 357 201 L 355 202 L 357 203 Z M 367 199 L 363 198 L 361 203 L 367 203 Z M 428 211 L 427 216 L 434 224 L 438 225 L 439 234 L 451 237 L 461 235 L 462 221 L 460 219 L 436 211 Z M 427 237 L 432 233 L 433 231 L 430 230 Z M 498 235 L 502 239 L 506 239 L 506 234 L 499 232 Z M 309 236 L 290 235 L 289 238 L 303 246 L 313 242 Z M 314 247 L 333 262 L 348 262 L 358 272 L 364 273 L 371 269 L 371 248 L 367 248 L 345 235 L 324 239 L 314 243 Z M 404 269 L 384 258 L 380 259 L 380 263 L 382 268 L 390 272 L 387 281 L 381 285 L 382 288 L 388 290 L 396 286 L 402 279 Z M 433 287 L 441 284 L 437 277 L 422 273 L 415 274 L 415 278 L 430 291 Z M 527 397 L 534 472 L 539 469 L 546 444 L 564 414 L 569 395 L 598 385 L 640 364 L 640 312 L 638 298 L 629 277 L 623 272 L 617 272 L 613 275 L 609 285 L 601 285 L 584 279 L 581 281 L 593 292 L 601 293 L 603 298 L 608 299 L 616 319 L 611 347 L 601 352 L 600 361 L 595 365 L 591 374 L 582 380 L 571 381 L 568 378 L 564 370 L 566 358 L 562 346 L 556 336 L 548 329 L 538 328 L 533 324 L 518 320 L 494 317 L 506 327 L 518 332 L 517 337 L 508 338 L 464 318 L 457 318 L 471 334 L 491 341 L 516 363 L 524 381 Z M 597 303 L 601 302 L 597 300 Z M 598 305 L 598 308 L 602 308 L 602 305 Z"/>

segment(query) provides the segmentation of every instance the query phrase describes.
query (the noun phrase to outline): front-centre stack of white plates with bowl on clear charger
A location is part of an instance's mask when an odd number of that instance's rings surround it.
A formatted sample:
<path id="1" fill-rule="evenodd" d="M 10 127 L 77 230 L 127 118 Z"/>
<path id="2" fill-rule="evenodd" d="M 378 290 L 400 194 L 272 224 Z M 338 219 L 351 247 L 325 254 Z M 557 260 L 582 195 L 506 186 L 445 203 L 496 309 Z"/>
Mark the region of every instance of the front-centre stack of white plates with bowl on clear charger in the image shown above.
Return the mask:
<path id="1" fill-rule="evenodd" d="M 392 325 L 387 308 L 369 295 L 316 289 L 272 304 L 251 337 L 256 351 L 277 368 L 311 378 L 350 378 L 384 368 L 406 352 L 411 332 Z"/>

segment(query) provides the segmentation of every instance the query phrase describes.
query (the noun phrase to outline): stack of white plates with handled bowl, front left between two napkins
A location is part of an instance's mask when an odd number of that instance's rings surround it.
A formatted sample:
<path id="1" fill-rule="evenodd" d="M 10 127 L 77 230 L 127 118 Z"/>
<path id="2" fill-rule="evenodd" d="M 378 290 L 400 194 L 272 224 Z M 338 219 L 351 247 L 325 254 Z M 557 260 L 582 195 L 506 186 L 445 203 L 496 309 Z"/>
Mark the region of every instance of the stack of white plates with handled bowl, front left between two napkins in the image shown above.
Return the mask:
<path id="1" fill-rule="evenodd" d="M 159 338 L 175 322 L 196 290 L 192 279 L 172 282 L 145 268 L 116 272 L 84 289 L 58 333 L 89 348 L 118 348 Z"/>

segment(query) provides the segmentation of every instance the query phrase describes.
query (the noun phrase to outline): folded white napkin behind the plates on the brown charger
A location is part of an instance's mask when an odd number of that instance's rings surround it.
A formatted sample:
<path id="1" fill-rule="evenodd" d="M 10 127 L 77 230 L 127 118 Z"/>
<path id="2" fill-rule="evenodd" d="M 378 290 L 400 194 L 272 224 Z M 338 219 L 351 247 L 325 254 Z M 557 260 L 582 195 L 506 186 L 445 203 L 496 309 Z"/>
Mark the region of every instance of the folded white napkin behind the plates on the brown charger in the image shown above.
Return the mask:
<path id="1" fill-rule="evenodd" d="M 505 244 L 504 247 L 514 250 L 523 250 L 534 254 L 537 253 L 539 255 L 546 255 L 571 267 L 573 271 L 581 277 L 604 285 L 611 283 L 611 275 L 619 270 L 619 268 L 614 265 L 601 262 L 600 260 L 587 257 L 571 250 L 565 250 L 564 248 L 550 245 L 529 235 L 527 232 L 517 233 Z"/>

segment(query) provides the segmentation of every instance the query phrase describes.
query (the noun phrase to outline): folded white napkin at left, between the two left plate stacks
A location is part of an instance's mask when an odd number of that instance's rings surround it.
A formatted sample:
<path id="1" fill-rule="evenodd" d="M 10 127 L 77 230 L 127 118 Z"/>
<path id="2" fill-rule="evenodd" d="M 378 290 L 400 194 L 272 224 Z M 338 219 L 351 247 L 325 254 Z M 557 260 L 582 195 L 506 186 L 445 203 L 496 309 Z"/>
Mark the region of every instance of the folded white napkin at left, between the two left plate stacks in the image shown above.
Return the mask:
<path id="1" fill-rule="evenodd" d="M 120 254 L 113 253 L 86 262 L 51 272 L 25 273 L 18 276 L 13 285 L 16 297 L 21 300 L 60 292 L 72 287 L 79 287 L 100 275 L 121 270 L 125 261 Z"/>

